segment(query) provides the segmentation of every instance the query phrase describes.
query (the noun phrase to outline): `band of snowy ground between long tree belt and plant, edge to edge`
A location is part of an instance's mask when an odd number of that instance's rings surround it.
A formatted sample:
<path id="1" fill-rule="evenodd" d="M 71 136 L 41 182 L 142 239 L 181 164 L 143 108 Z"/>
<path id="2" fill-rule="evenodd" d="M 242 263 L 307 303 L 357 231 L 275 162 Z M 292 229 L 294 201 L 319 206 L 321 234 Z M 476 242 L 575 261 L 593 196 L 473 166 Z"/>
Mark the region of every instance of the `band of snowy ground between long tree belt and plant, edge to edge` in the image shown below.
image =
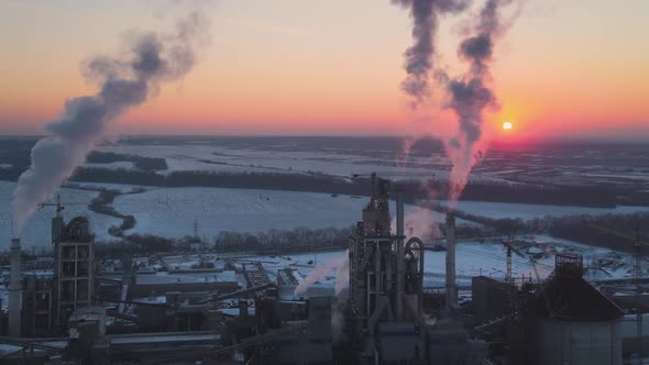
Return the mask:
<path id="1" fill-rule="evenodd" d="M 75 182 L 79 187 L 109 188 L 132 192 L 142 187 L 120 184 Z M 11 195 L 14 182 L 0 181 L 0 242 L 9 242 L 11 235 Z M 151 188 L 145 192 L 129 193 L 116 198 L 113 207 L 121 213 L 133 214 L 138 220 L 129 233 L 146 233 L 166 237 L 183 237 L 194 234 L 198 223 L 199 235 L 211 242 L 220 231 L 260 232 L 271 229 L 290 230 L 298 226 L 346 228 L 361 219 L 366 198 L 350 196 L 333 197 L 327 193 L 274 191 L 227 188 Z M 99 240 L 110 240 L 107 231 L 120 220 L 89 212 L 87 203 L 96 191 L 63 189 L 62 200 L 67 204 L 64 215 L 87 215 Z M 79 204 L 80 203 L 80 204 Z M 394 204 L 394 203 L 393 203 Z M 642 207 L 597 209 L 582 207 L 518 204 L 498 202 L 461 201 L 458 209 L 492 218 L 532 219 L 544 215 L 627 213 L 646 210 Z M 395 209 L 392 207 L 394 214 Z M 50 218 L 53 208 L 40 209 L 23 231 L 23 244 L 48 246 Z M 406 232 L 422 237 L 435 235 L 431 222 L 442 221 L 437 212 L 406 207 Z M 465 223 L 460 221 L 460 224 Z"/>

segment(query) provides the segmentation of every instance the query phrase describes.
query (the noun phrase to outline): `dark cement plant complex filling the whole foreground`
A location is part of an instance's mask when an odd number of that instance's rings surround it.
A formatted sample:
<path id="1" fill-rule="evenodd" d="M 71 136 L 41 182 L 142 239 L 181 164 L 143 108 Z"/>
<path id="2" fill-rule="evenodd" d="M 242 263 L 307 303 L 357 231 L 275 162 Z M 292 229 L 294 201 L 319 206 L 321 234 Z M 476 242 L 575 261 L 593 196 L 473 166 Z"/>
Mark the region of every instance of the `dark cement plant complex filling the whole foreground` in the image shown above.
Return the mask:
<path id="1" fill-rule="evenodd" d="M 305 278 L 296 267 L 270 273 L 261 261 L 187 268 L 161 254 L 146 257 L 158 268 L 150 270 L 125 255 L 100 268 L 88 220 L 65 223 L 57 213 L 54 258 L 37 264 L 43 272 L 21 273 L 20 241 L 12 241 L 0 361 L 581 365 L 646 354 L 641 328 L 625 323 L 634 312 L 583 278 L 580 255 L 558 253 L 544 280 L 514 278 L 507 241 L 502 279 L 458 286 L 459 212 L 446 214 L 446 283 L 425 288 L 425 254 L 438 246 L 406 235 L 398 185 L 376 175 L 369 182 L 346 253 L 349 290 L 340 292 L 297 292 Z M 460 300 L 462 290 L 470 300 Z"/>

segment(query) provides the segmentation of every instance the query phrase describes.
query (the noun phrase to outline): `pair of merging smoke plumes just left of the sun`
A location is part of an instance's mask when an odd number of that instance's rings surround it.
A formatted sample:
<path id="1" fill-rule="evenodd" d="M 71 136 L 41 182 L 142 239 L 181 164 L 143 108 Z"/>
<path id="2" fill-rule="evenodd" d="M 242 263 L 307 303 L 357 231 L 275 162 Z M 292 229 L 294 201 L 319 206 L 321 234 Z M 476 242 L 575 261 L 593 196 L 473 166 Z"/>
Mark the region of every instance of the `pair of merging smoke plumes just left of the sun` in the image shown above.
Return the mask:
<path id="1" fill-rule="evenodd" d="M 413 38 L 405 56 L 406 79 L 402 82 L 404 91 L 413 98 L 411 108 L 416 109 L 430 97 L 430 76 L 448 93 L 447 108 L 458 115 L 459 135 L 447 141 L 446 150 L 452 162 L 449 178 L 449 200 L 451 207 L 459 199 L 466 186 L 471 168 L 482 158 L 479 144 L 482 137 L 483 112 L 497 107 L 493 91 L 486 85 L 491 78 L 488 64 L 492 60 L 495 40 L 514 22 L 501 19 L 501 9 L 521 0 L 486 0 L 479 13 L 475 24 L 471 26 L 473 35 L 460 43 L 458 55 L 461 60 L 470 63 L 470 70 L 462 77 L 451 79 L 440 67 L 433 65 L 436 57 L 435 37 L 439 19 L 443 14 L 458 14 L 465 11 L 471 0 L 392 0 L 393 3 L 410 10 L 414 21 Z M 407 156 L 410 142 L 404 144 Z M 405 161 L 405 157 L 399 157 Z"/>

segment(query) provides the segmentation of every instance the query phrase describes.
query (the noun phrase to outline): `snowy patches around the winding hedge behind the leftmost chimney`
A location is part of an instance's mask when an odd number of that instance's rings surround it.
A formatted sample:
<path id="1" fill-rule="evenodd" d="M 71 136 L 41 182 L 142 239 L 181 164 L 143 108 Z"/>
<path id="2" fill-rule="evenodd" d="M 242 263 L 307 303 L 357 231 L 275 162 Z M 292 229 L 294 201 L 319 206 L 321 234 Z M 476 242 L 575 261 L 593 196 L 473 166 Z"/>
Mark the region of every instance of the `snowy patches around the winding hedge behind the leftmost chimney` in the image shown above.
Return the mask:
<path id="1" fill-rule="evenodd" d="M 0 250 L 9 246 L 12 234 L 11 221 L 11 199 L 15 182 L 0 181 Z M 97 197 L 96 191 L 61 189 L 61 200 L 73 204 L 67 204 L 63 211 L 66 220 L 77 215 L 86 215 L 90 219 L 92 231 L 99 240 L 108 239 L 108 229 L 113 224 L 120 224 L 121 220 L 97 214 L 88 211 L 87 204 Z M 21 244 L 23 247 L 38 246 L 48 247 L 52 245 L 51 239 L 51 219 L 55 214 L 54 207 L 41 208 L 28 221 L 21 234 Z"/>

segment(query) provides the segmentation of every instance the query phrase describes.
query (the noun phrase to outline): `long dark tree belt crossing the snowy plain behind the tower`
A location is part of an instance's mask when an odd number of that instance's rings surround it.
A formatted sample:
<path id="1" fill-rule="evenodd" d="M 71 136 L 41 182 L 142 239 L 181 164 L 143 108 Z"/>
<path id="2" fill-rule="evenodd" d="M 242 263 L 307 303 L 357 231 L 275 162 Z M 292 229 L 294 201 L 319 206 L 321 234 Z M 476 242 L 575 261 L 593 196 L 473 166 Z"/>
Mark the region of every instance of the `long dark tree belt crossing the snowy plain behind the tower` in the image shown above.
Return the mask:
<path id="1" fill-rule="evenodd" d="M 370 192 L 369 178 L 348 179 L 318 173 L 173 172 L 162 175 L 133 169 L 79 168 L 72 179 L 157 187 L 265 189 L 356 196 L 366 196 Z M 435 197 L 438 199 L 448 197 L 449 189 L 446 181 L 404 180 L 398 184 L 404 186 L 406 202 L 428 199 L 431 196 L 430 191 L 435 191 Z M 616 192 L 606 187 L 541 186 L 501 181 L 471 181 L 466 185 L 461 199 L 598 208 L 613 208 L 618 202 Z"/>

